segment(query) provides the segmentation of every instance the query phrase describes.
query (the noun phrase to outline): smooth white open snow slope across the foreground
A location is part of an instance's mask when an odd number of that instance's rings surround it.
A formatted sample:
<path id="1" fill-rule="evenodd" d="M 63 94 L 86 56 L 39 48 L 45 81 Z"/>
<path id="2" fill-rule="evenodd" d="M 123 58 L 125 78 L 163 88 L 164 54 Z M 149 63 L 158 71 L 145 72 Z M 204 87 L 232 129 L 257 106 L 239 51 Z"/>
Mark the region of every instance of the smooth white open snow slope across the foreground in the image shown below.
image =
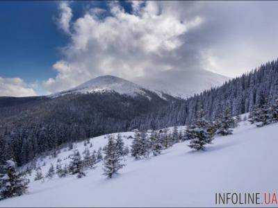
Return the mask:
<path id="1" fill-rule="evenodd" d="M 31 182 L 27 195 L 0 201 L 0 207 L 211 207 L 217 191 L 277 191 L 277 130 L 277 123 L 256 128 L 243 121 L 234 135 L 216 137 L 204 152 L 190 150 L 186 141 L 158 157 L 127 157 L 112 180 L 102 175 L 99 164 L 81 179 L 70 175 Z M 97 149 L 107 139 L 91 141 Z M 83 143 L 77 147 L 82 151 Z M 58 157 L 68 154 L 62 151 Z M 44 171 L 55 160 L 47 159 Z"/>

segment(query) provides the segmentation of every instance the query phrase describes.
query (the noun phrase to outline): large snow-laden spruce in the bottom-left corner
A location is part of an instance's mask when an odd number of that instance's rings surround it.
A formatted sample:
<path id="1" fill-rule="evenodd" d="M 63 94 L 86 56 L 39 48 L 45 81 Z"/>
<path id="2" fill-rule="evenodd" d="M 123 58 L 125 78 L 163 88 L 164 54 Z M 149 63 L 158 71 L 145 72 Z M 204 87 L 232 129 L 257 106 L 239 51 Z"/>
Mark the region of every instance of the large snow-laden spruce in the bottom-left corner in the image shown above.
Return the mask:
<path id="1" fill-rule="evenodd" d="M 16 170 L 13 159 L 6 161 L 2 168 L 3 174 L 0 177 L 0 199 L 21 196 L 28 189 L 28 180 Z"/>

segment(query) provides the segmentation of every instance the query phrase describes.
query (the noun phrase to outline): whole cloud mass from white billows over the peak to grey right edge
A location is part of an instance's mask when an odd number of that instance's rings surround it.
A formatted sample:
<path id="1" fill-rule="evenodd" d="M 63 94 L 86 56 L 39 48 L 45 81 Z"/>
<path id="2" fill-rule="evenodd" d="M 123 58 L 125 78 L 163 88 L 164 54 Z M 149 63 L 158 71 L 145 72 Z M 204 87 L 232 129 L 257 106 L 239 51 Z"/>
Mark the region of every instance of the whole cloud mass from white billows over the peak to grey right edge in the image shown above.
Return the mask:
<path id="1" fill-rule="evenodd" d="M 159 71 L 208 69 L 238 76 L 277 57 L 278 2 L 110 1 L 75 21 L 61 3 L 58 24 L 69 35 L 49 93 L 111 74 L 131 79 Z M 174 81 L 174 80 L 173 80 Z"/>

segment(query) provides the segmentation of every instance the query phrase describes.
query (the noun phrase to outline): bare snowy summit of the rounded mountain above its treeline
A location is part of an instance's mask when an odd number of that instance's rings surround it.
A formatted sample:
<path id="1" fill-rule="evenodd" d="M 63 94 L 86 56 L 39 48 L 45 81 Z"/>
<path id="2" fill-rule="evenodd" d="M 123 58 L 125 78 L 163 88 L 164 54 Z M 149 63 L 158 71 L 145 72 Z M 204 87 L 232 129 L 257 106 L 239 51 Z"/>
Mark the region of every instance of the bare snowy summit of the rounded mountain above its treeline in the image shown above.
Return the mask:
<path id="1" fill-rule="evenodd" d="M 125 94 L 129 96 L 147 96 L 151 98 L 150 93 L 156 94 L 163 99 L 167 99 L 167 96 L 163 96 L 161 92 L 149 92 L 149 89 L 144 89 L 140 85 L 129 82 L 116 76 L 98 76 L 88 80 L 87 82 L 63 92 L 56 93 L 52 96 L 61 96 L 65 94 L 93 94 L 93 93 L 106 93 L 117 92 L 119 94 Z"/>

